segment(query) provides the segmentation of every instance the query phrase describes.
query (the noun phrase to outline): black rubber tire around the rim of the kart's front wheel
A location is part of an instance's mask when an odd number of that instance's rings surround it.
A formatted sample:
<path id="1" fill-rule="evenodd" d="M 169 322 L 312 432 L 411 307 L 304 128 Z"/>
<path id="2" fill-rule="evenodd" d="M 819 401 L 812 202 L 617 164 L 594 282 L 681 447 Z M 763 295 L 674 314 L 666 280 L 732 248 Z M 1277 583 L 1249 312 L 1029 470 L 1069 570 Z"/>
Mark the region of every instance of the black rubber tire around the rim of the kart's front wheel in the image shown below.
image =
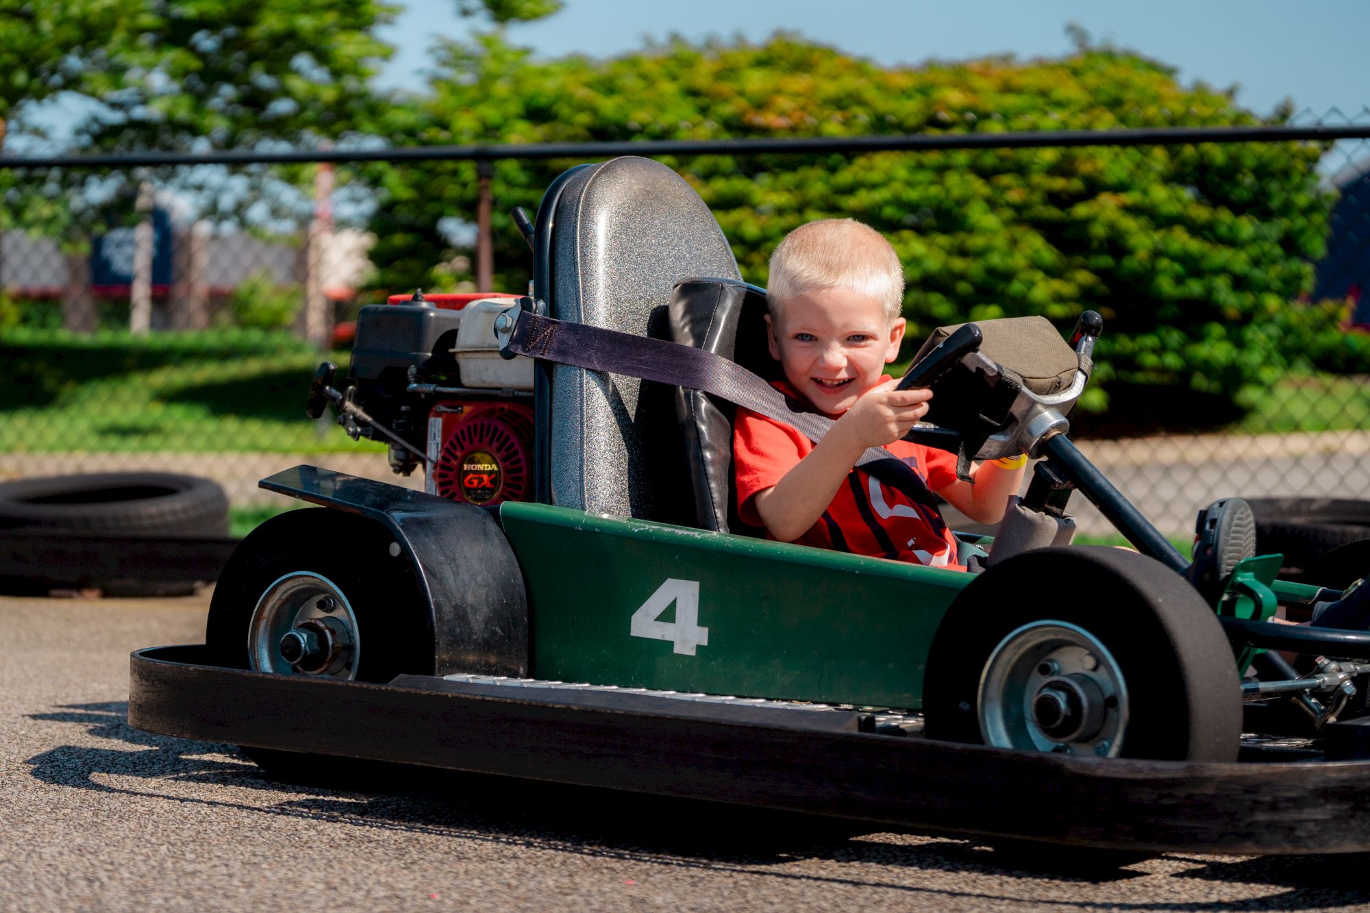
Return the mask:
<path id="1" fill-rule="evenodd" d="M 1159 561 L 1122 548 L 1040 548 L 989 568 L 956 598 L 923 680 L 927 738 L 971 744 L 980 677 L 1030 621 L 1078 625 L 1118 662 L 1129 691 L 1122 757 L 1234 761 L 1241 684 L 1212 609 Z"/>

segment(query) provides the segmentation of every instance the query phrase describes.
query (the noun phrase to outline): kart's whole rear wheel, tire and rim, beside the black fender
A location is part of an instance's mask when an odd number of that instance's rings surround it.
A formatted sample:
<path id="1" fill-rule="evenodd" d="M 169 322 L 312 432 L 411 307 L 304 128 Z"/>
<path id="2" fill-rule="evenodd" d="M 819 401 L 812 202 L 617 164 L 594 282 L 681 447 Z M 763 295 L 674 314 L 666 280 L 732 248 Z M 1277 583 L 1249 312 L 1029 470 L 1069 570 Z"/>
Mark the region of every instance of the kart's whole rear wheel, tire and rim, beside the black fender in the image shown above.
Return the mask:
<path id="1" fill-rule="evenodd" d="M 385 683 L 432 674 L 418 580 L 389 531 L 337 510 L 295 510 L 233 552 L 210 603 L 215 665 Z"/>

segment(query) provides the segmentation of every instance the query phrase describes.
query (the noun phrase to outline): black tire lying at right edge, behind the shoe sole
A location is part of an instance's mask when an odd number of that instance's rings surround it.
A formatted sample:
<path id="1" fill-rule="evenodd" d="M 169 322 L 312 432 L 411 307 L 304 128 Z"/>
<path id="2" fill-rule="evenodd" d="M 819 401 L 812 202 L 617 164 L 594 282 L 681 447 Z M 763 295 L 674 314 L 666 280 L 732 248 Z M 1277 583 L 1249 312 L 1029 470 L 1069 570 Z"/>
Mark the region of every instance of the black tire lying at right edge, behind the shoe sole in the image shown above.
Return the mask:
<path id="1" fill-rule="evenodd" d="M 1370 539 L 1370 500 L 1351 498 L 1248 498 L 1256 517 L 1256 552 L 1284 555 L 1282 577 L 1296 579 L 1333 548 Z"/>

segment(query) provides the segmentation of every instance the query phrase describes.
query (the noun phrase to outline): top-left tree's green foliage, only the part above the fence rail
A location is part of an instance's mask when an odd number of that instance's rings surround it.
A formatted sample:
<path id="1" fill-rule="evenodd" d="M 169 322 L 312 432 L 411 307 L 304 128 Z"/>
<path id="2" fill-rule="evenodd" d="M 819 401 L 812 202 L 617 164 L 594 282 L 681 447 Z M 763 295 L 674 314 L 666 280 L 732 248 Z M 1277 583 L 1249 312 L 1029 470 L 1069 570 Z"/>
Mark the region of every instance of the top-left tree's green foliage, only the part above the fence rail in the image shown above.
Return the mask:
<path id="1" fill-rule="evenodd" d="M 0 119 L 58 92 L 96 103 L 100 149 L 252 147 L 352 129 L 389 56 L 379 0 L 0 0 Z"/>

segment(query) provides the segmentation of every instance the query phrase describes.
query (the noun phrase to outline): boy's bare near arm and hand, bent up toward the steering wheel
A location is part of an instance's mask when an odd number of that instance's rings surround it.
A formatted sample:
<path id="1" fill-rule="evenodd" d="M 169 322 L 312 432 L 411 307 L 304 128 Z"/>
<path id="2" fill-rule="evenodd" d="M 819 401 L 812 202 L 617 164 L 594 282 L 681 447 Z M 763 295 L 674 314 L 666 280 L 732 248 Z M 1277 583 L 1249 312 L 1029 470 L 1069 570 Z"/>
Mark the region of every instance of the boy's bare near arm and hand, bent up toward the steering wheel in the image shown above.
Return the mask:
<path id="1" fill-rule="evenodd" d="M 895 389 L 896 381 L 874 387 L 837 419 L 807 456 L 774 487 L 756 492 L 752 504 L 767 532 L 793 541 L 818 522 L 837 488 L 866 452 L 899 440 L 927 414 L 927 389 Z"/>

